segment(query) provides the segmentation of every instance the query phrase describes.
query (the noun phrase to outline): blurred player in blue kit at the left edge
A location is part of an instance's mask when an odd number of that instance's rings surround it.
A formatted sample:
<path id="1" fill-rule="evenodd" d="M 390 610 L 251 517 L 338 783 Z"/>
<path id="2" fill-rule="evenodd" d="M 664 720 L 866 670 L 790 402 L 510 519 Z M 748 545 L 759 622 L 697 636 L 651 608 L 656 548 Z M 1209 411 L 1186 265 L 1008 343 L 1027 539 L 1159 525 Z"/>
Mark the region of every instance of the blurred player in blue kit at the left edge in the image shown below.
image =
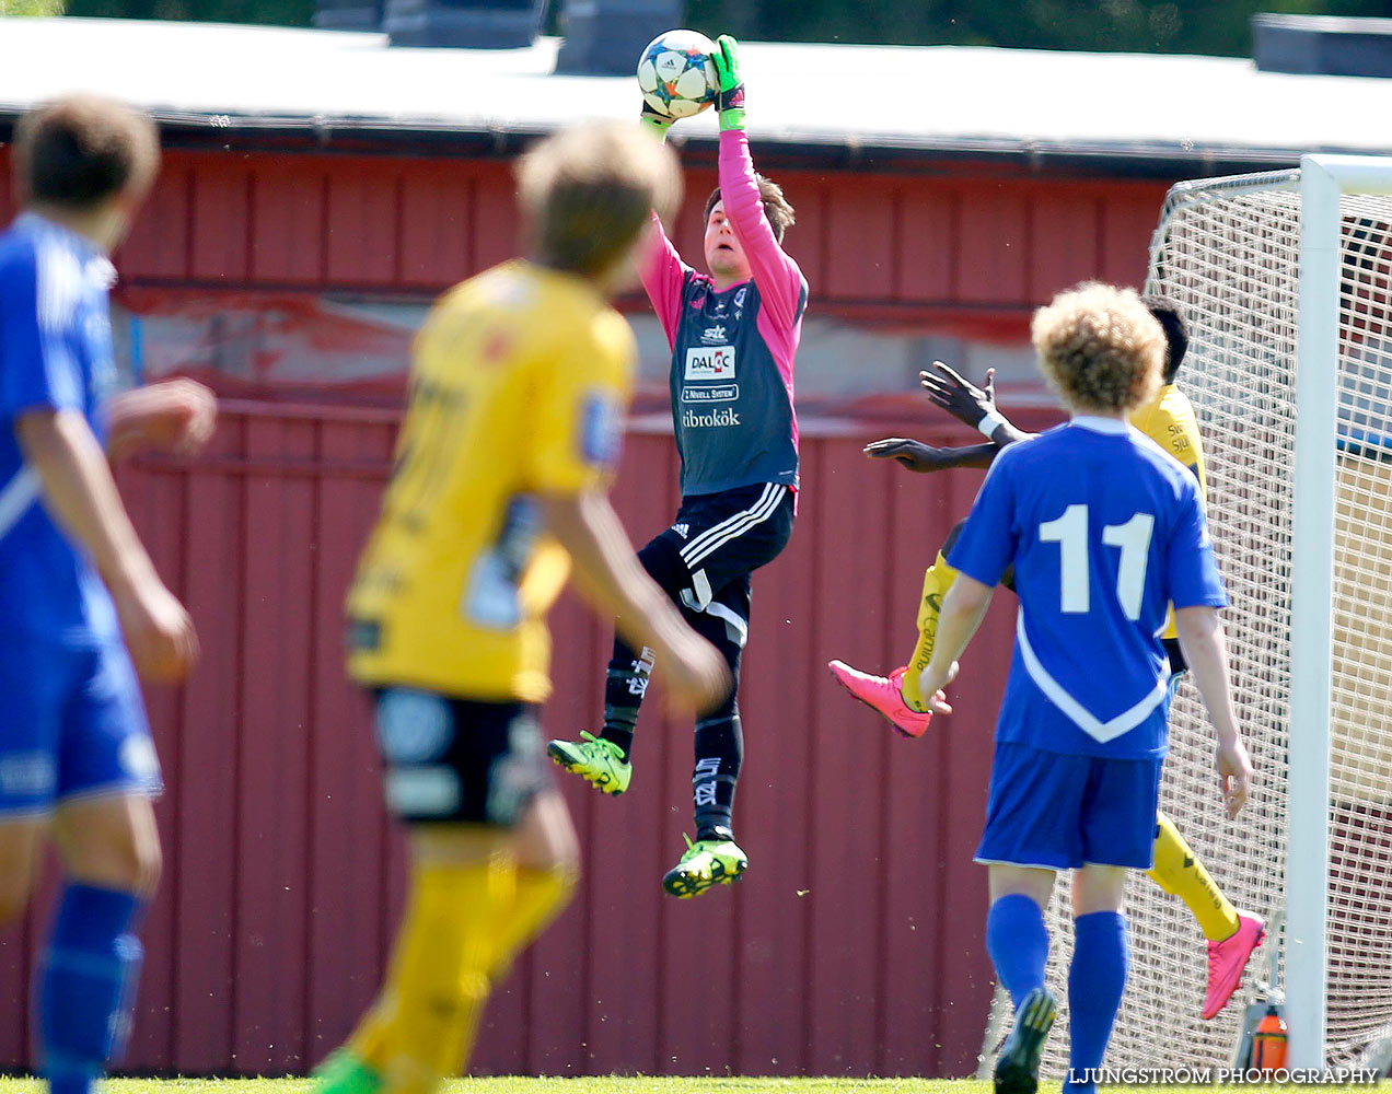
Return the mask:
<path id="1" fill-rule="evenodd" d="M 64 881 L 32 1029 L 53 1094 L 95 1090 L 131 1026 L 160 871 L 135 674 L 175 681 L 198 656 L 107 463 L 191 452 L 216 415 L 188 380 L 116 393 L 107 255 L 157 170 L 148 117 L 86 96 L 42 107 L 15 132 L 24 212 L 0 237 L 0 921 L 52 835 Z"/>

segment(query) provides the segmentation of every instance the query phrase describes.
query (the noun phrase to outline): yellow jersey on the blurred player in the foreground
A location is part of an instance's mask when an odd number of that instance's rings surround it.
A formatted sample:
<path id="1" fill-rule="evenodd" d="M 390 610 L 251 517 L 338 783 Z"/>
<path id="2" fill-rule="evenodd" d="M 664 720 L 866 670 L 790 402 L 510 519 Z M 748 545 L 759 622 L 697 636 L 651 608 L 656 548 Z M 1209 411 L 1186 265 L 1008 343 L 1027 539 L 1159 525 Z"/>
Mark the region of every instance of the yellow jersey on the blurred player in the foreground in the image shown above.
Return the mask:
<path id="1" fill-rule="evenodd" d="M 544 617 L 569 558 L 536 497 L 607 484 L 633 356 L 628 323 L 587 281 L 532 263 L 498 266 L 436 303 L 348 592 L 356 681 L 546 699 Z"/>

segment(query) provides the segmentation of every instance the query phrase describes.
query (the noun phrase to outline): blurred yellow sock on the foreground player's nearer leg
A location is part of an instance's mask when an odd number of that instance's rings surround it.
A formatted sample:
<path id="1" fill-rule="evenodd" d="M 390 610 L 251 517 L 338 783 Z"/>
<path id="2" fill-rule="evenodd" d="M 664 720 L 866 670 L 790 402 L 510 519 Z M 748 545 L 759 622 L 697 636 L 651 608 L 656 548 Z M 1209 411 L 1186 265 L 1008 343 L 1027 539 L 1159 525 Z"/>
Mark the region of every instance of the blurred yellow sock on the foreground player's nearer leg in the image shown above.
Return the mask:
<path id="1" fill-rule="evenodd" d="M 412 867 L 412 892 L 376 1005 L 349 1041 L 386 1094 L 432 1094 L 465 1065 L 516 903 L 516 863 Z"/>

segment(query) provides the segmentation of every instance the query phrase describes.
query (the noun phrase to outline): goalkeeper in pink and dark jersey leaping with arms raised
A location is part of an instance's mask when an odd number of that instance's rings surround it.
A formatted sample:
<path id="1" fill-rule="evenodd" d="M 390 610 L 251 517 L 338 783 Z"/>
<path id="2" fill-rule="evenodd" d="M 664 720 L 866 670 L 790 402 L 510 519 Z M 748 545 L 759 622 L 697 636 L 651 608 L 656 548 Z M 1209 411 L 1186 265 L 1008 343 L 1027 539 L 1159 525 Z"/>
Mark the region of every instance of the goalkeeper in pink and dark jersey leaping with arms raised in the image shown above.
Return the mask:
<path id="1" fill-rule="evenodd" d="M 642 270 L 672 347 L 682 504 L 671 528 L 638 557 L 690 626 L 725 654 L 738 688 L 750 573 L 777 558 L 792 534 L 798 490 L 792 373 L 807 283 L 781 248 L 793 223 L 792 206 L 754 173 L 735 40 L 722 36 L 713 60 L 721 132 L 720 187 L 706 202 L 710 273 L 682 262 L 656 216 L 658 246 Z M 643 122 L 660 136 L 671 125 L 646 103 Z M 603 793 L 622 793 L 632 779 L 633 729 L 653 664 L 651 649 L 615 637 L 604 729 L 550 745 L 561 767 Z M 688 838 L 681 862 L 663 878 L 674 896 L 734 881 L 748 866 L 731 821 L 743 752 L 732 693 L 696 722 L 696 841 Z"/>

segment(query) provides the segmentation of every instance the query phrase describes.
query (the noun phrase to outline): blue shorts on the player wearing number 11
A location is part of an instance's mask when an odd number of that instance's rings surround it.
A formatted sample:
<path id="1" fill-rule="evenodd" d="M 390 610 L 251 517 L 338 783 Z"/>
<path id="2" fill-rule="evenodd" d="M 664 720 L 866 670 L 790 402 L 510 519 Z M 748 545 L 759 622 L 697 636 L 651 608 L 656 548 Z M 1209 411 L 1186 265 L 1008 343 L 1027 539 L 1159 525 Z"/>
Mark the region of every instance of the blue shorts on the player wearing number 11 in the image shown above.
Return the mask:
<path id="1" fill-rule="evenodd" d="M 998 742 L 976 860 L 1076 870 L 1150 870 L 1164 760 L 1068 756 Z"/>

